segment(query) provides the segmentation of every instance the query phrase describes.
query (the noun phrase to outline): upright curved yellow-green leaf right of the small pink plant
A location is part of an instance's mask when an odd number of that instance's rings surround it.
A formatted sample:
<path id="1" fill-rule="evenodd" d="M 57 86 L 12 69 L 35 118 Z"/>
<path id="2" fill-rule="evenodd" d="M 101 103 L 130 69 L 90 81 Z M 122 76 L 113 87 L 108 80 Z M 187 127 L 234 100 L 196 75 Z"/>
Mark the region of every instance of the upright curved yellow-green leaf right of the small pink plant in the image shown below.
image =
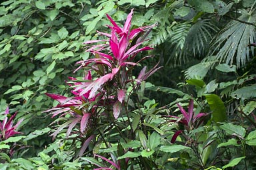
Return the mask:
<path id="1" fill-rule="evenodd" d="M 210 109 L 213 111 L 213 121 L 224 122 L 227 120 L 226 108 L 221 98 L 216 94 L 205 94 L 204 96 L 210 106 Z"/>

